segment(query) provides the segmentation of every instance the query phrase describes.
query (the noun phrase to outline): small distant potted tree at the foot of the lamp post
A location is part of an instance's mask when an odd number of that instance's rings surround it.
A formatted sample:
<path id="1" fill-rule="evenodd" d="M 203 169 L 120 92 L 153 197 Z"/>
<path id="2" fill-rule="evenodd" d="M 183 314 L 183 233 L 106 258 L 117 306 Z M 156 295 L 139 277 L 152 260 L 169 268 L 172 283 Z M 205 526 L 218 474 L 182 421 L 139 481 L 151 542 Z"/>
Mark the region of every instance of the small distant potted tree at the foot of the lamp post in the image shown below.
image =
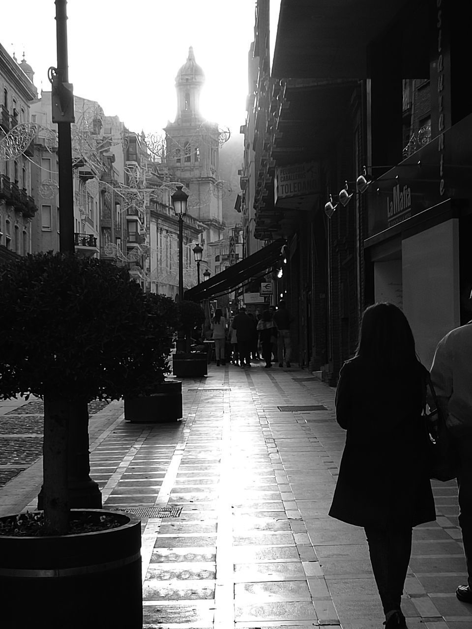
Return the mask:
<path id="1" fill-rule="evenodd" d="M 191 351 L 192 331 L 205 321 L 205 312 L 198 303 L 185 299 L 177 302 L 177 310 L 177 325 L 184 333 L 185 351 L 177 346 L 172 356 L 172 373 L 179 378 L 206 376 L 206 352 Z"/>

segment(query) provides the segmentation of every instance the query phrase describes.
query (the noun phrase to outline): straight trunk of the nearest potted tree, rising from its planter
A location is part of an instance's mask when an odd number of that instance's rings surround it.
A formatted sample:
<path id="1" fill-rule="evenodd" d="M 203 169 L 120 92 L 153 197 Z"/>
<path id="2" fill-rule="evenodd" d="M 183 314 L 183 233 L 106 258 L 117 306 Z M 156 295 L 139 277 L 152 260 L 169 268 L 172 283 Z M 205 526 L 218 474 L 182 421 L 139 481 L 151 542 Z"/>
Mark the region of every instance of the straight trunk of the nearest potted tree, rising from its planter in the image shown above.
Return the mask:
<path id="1" fill-rule="evenodd" d="M 44 396 L 43 501 L 45 535 L 65 535 L 69 530 L 67 491 L 67 436 L 69 403 Z"/>

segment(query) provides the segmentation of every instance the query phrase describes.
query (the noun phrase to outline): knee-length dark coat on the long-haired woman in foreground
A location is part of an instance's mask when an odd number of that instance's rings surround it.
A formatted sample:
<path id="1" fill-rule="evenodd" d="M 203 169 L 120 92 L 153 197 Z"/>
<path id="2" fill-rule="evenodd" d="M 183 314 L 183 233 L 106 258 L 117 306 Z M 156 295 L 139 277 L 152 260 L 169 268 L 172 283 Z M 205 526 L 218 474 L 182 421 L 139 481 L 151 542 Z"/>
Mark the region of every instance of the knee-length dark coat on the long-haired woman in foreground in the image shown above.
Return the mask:
<path id="1" fill-rule="evenodd" d="M 425 368 L 375 369 L 356 357 L 340 371 L 336 419 L 347 430 L 329 515 L 356 526 L 435 520 L 421 413 Z"/>

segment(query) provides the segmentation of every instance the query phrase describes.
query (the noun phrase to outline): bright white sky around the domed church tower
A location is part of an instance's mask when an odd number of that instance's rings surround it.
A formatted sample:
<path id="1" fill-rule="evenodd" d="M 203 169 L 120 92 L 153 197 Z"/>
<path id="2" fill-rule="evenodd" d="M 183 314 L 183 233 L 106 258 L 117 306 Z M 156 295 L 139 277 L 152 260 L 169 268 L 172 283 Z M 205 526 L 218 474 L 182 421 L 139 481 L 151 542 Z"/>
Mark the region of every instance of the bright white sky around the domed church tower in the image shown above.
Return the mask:
<path id="1" fill-rule="evenodd" d="M 256 0 L 69 0 L 74 94 L 98 101 L 132 131 L 160 133 L 176 116 L 174 81 L 193 46 L 206 76 L 201 113 L 239 133 L 255 7 Z M 47 69 L 57 65 L 54 18 L 54 0 L 2 3 L 0 43 L 18 61 L 25 50 L 38 91 L 50 90 Z"/>

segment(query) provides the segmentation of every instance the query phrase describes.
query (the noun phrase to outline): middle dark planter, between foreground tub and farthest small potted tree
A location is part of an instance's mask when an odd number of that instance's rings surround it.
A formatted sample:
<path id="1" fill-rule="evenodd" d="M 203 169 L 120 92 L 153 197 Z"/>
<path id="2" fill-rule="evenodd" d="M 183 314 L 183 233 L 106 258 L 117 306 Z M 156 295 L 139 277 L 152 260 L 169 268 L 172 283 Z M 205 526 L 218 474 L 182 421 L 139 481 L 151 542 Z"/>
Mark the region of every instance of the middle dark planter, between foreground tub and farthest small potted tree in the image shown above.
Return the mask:
<path id="1" fill-rule="evenodd" d="M 156 384 L 150 396 L 125 396 L 125 420 L 132 423 L 160 423 L 182 417 L 182 382 Z"/>

